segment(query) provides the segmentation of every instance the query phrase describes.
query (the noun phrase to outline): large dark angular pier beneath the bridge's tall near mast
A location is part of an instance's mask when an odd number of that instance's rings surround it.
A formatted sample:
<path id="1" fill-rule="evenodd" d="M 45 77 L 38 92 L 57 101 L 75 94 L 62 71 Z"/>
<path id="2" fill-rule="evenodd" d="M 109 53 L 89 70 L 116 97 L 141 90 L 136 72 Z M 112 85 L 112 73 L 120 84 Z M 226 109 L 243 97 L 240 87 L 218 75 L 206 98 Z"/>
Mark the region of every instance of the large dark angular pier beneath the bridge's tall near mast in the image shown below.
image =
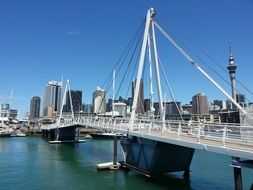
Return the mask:
<path id="1" fill-rule="evenodd" d="M 183 171 L 186 179 L 190 177 L 193 148 L 136 136 L 122 139 L 121 145 L 126 155 L 125 167 L 146 176 Z"/>

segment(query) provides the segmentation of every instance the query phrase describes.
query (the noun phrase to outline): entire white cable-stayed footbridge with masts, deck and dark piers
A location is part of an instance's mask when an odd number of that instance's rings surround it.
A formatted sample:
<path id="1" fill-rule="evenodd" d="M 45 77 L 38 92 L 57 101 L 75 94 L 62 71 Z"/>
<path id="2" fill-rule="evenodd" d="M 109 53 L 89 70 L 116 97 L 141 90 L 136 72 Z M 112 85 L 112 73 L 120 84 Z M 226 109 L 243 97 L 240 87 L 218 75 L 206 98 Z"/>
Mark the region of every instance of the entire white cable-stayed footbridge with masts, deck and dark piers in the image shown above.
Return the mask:
<path id="1" fill-rule="evenodd" d="M 119 132 L 125 136 L 121 139 L 123 147 L 123 165 L 135 169 L 145 175 L 184 171 L 184 177 L 189 177 L 190 164 L 195 149 L 225 154 L 232 157 L 234 168 L 235 189 L 242 189 L 241 168 L 253 168 L 253 111 L 246 111 L 236 100 L 214 81 L 161 27 L 154 21 L 154 9 L 148 10 L 145 22 L 142 48 L 139 57 L 137 80 L 134 89 L 131 117 L 114 116 L 114 91 L 112 116 L 62 116 L 62 109 L 56 123 L 43 125 L 44 135 L 50 135 L 51 140 L 75 141 L 79 128 L 95 128 Z M 154 28 L 175 46 L 186 60 L 218 88 L 241 113 L 241 124 L 208 123 L 181 120 L 166 120 L 161 89 L 159 57 L 156 48 Z M 149 56 L 146 56 L 146 51 Z M 151 52 L 153 54 L 151 54 Z M 137 103 L 140 93 L 140 81 L 143 75 L 145 58 L 149 58 L 150 68 L 150 107 L 149 117 L 138 117 Z M 152 65 L 155 65 L 157 92 L 159 99 L 159 117 L 154 117 Z M 115 72 L 113 74 L 115 78 Z M 166 78 L 165 78 L 166 79 Z M 115 79 L 114 79 L 115 81 Z M 166 81 L 167 82 L 167 81 Z M 113 82 L 113 90 L 114 84 Z M 70 88 L 69 82 L 67 87 Z M 71 94 L 69 94 L 71 99 Z M 173 98 L 174 99 L 174 98 Z M 70 101 L 71 107 L 72 103 Z M 114 165 L 117 154 L 117 141 L 114 141 Z M 116 148 L 115 148 L 116 147 Z"/>

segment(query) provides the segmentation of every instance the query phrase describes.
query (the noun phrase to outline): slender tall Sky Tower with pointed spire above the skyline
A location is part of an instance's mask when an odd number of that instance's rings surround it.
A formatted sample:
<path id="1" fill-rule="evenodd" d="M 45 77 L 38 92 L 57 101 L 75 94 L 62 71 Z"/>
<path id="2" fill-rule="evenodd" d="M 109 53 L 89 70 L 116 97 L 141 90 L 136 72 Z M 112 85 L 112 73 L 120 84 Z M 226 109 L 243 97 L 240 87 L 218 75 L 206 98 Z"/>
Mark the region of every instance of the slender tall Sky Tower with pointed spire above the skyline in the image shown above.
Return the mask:
<path id="1" fill-rule="evenodd" d="M 229 43 L 229 59 L 228 59 L 228 71 L 229 76 L 231 80 L 231 90 L 232 90 L 232 97 L 234 100 L 236 100 L 236 91 L 235 91 L 235 70 L 237 68 L 237 65 L 234 62 L 234 58 L 232 55 L 232 48 L 231 43 Z"/>

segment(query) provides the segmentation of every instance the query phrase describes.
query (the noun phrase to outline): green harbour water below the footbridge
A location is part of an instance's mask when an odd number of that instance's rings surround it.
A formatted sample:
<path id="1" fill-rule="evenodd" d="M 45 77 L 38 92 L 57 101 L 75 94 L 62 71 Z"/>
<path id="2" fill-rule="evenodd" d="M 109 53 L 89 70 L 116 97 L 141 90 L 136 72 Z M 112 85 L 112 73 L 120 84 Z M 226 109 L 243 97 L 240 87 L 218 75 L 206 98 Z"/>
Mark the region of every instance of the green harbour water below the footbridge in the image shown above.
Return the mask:
<path id="1" fill-rule="evenodd" d="M 97 163 L 112 160 L 112 150 L 111 140 L 53 145 L 40 137 L 0 138 L 0 189 L 234 189 L 227 156 L 196 151 L 190 180 L 182 173 L 150 180 L 133 171 L 97 171 Z M 122 160 L 120 146 L 118 154 Z M 244 169 L 244 189 L 252 183 L 253 170 Z"/>

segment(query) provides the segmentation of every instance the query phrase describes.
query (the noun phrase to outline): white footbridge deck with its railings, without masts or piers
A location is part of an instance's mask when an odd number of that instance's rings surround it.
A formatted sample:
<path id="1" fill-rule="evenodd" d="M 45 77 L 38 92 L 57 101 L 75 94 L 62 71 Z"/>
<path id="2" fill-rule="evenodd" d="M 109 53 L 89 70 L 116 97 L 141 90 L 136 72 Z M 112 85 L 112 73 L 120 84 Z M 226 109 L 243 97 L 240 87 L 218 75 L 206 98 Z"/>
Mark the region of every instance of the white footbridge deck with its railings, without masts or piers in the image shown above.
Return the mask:
<path id="1" fill-rule="evenodd" d="M 129 118 L 81 116 L 43 125 L 41 129 L 53 130 L 74 126 L 106 129 L 193 149 L 253 159 L 253 126 L 176 120 L 166 120 L 163 123 L 161 120 L 151 119 L 135 119 L 131 126 Z"/>

